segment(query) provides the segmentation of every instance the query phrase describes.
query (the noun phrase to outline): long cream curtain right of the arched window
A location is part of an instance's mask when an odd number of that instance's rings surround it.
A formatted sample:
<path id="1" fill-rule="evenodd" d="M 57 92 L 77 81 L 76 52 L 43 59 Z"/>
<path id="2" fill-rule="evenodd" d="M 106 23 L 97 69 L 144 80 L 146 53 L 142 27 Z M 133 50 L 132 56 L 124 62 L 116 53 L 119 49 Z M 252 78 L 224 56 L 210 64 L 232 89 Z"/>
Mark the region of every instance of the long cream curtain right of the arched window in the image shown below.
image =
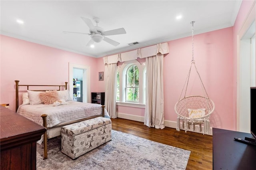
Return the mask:
<path id="1" fill-rule="evenodd" d="M 144 125 L 164 128 L 164 55 L 146 58 L 146 108 Z"/>

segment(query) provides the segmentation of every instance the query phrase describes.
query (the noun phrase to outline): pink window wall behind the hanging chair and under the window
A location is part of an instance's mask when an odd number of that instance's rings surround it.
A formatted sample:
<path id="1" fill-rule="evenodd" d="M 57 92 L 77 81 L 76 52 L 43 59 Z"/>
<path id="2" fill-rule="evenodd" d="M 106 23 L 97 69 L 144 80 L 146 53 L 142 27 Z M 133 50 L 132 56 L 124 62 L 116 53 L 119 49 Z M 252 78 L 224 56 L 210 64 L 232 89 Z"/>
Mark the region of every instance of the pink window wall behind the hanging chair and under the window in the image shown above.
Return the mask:
<path id="1" fill-rule="evenodd" d="M 164 112 L 166 121 L 176 122 L 174 105 L 180 97 L 192 59 L 192 38 L 168 42 L 170 53 L 164 57 Z M 194 59 L 209 97 L 216 109 L 211 127 L 235 128 L 233 116 L 233 28 L 194 36 Z M 203 95 L 193 68 L 187 95 Z M 119 113 L 144 116 L 144 109 L 118 106 Z"/>

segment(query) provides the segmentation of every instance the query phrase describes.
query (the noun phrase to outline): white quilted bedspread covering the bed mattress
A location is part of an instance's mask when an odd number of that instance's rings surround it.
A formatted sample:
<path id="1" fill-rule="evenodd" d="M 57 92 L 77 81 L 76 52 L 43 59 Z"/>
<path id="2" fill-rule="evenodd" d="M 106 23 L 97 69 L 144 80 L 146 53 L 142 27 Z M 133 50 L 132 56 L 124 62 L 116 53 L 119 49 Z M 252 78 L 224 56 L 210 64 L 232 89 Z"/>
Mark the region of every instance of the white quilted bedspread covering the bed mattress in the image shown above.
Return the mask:
<path id="1" fill-rule="evenodd" d="M 47 114 L 47 127 L 54 127 L 59 123 L 82 119 L 90 116 L 102 114 L 102 106 L 93 103 L 82 103 L 77 101 L 67 101 L 68 105 L 20 105 L 17 113 L 43 125 L 41 115 Z M 108 112 L 105 109 L 105 117 L 109 118 Z"/>

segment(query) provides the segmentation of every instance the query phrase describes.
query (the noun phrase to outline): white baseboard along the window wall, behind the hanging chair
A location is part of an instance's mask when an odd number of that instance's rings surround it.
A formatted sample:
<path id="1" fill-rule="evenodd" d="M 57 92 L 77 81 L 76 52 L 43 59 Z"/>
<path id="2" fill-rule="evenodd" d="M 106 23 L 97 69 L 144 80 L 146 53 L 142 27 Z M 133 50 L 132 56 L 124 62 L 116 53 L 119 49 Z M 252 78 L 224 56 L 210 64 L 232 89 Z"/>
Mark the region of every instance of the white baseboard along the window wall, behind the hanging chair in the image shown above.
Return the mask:
<path id="1" fill-rule="evenodd" d="M 142 116 L 129 115 L 129 114 L 126 114 L 126 113 L 116 113 L 116 115 L 117 115 L 118 118 L 128 119 L 128 120 L 138 121 L 138 122 L 144 122 L 144 117 L 142 117 Z M 176 125 L 177 125 L 177 123 L 174 122 L 174 121 L 164 121 L 164 126 L 165 127 L 170 127 L 170 128 L 175 128 L 176 129 Z M 182 128 L 182 123 L 180 123 L 180 130 L 184 130 Z M 204 132 L 204 126 L 202 126 L 202 132 L 200 132 L 199 125 L 195 126 L 195 130 L 193 130 L 193 127 L 190 126 L 190 129 L 188 129 L 187 131 L 203 133 Z M 212 127 L 210 128 L 210 135 L 212 135 Z"/>

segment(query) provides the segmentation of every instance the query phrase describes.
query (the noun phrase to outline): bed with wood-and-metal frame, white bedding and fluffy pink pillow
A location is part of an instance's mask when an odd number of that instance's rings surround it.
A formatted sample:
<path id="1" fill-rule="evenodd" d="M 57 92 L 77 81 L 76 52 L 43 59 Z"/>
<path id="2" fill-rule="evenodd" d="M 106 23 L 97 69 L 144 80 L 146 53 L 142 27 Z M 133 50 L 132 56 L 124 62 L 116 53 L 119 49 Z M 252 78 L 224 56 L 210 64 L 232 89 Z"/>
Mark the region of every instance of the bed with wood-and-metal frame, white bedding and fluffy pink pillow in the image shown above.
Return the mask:
<path id="1" fill-rule="evenodd" d="M 64 125 L 95 117 L 110 118 L 104 105 L 72 101 L 67 89 L 68 82 L 65 82 L 65 85 L 19 85 L 19 80 L 15 80 L 15 83 L 16 112 L 44 126 L 47 130 L 38 141 L 39 144 L 44 142 L 44 159 L 48 157 L 47 139 L 60 136 L 60 129 Z M 22 86 L 26 86 L 26 89 L 22 89 Z M 22 93 L 21 105 L 19 105 L 20 93 Z M 55 105 L 56 102 L 53 103 L 56 99 L 60 101 L 58 105 Z"/>

